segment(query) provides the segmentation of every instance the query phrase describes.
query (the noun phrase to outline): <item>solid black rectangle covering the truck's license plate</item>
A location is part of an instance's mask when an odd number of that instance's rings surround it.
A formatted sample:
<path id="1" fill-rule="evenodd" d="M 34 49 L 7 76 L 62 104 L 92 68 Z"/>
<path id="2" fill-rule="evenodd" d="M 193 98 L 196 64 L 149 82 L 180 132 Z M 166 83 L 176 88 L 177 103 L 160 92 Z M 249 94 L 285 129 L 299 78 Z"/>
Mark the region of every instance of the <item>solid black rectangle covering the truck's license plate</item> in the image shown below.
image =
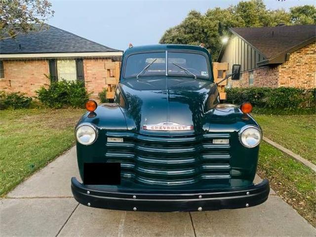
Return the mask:
<path id="1" fill-rule="evenodd" d="M 84 185 L 119 185 L 120 163 L 84 163 Z"/>

